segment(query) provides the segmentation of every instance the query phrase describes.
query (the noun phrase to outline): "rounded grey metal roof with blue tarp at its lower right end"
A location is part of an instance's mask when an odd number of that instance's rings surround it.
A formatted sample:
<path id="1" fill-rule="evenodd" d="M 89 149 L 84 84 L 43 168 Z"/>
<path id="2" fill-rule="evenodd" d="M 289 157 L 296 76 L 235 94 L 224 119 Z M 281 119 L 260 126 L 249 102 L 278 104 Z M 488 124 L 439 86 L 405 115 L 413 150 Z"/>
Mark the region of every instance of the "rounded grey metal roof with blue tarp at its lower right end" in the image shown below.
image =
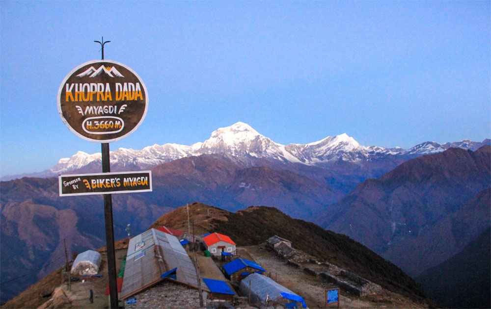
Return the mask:
<path id="1" fill-rule="evenodd" d="M 298 301 L 302 304 L 302 307 L 306 307 L 305 301 L 300 295 L 275 282 L 273 279 L 258 273 L 250 274 L 241 281 L 239 287 L 244 295 L 249 294 L 249 286 L 251 298 L 254 302 L 265 303 L 266 298 L 273 301 L 283 298 Z"/>

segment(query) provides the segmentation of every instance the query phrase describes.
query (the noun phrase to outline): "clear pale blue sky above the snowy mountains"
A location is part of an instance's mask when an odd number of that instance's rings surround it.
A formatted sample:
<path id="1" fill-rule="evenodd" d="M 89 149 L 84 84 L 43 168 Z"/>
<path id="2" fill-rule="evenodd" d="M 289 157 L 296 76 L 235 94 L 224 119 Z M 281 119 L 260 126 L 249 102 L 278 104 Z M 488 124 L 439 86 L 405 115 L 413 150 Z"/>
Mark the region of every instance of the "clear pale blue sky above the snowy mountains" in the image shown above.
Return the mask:
<path id="1" fill-rule="evenodd" d="M 100 57 L 132 67 L 145 121 L 111 144 L 192 144 L 250 124 L 274 141 L 343 132 L 411 147 L 490 137 L 489 1 L 2 1 L 1 175 L 100 144 L 61 122 L 56 94 Z"/>

